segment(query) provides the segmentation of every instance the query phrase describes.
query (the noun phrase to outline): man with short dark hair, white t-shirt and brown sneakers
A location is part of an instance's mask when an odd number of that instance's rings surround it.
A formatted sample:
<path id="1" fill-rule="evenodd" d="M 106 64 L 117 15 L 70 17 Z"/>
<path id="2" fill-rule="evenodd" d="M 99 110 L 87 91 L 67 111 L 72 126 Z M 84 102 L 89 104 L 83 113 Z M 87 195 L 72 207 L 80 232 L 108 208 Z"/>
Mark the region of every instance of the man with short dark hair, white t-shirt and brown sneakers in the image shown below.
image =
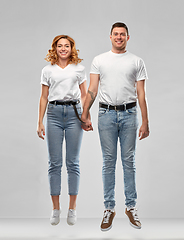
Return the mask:
<path id="1" fill-rule="evenodd" d="M 137 192 L 135 181 L 135 148 L 137 139 L 137 99 L 142 125 L 139 139 L 148 137 L 148 113 L 145 99 L 145 80 L 148 78 L 143 60 L 126 50 L 129 40 L 124 23 L 112 26 L 112 49 L 94 58 L 90 71 L 90 85 L 81 116 L 82 127 L 93 130 L 89 117 L 100 83 L 98 130 L 103 154 L 103 189 L 105 211 L 101 230 L 112 227 L 115 216 L 115 167 L 117 142 L 120 141 L 124 171 L 125 213 L 131 226 L 140 229 L 141 222 L 135 208 Z"/>

